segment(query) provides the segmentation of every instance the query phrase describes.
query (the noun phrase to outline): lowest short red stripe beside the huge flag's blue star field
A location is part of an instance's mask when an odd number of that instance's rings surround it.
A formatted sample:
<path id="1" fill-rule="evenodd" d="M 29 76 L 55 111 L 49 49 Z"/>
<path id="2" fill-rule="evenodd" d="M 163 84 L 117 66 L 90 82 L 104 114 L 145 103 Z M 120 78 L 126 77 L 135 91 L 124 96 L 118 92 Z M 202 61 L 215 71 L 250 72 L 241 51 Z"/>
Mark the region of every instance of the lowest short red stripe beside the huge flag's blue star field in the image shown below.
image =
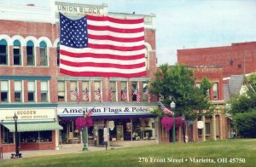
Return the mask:
<path id="1" fill-rule="evenodd" d="M 119 50 L 119 51 L 135 51 L 135 50 L 145 49 L 144 45 L 132 46 L 132 47 L 121 47 L 121 46 L 114 46 L 110 44 L 88 43 L 88 46 L 89 48 L 92 48 L 92 49 L 113 49 L 113 50 Z"/>

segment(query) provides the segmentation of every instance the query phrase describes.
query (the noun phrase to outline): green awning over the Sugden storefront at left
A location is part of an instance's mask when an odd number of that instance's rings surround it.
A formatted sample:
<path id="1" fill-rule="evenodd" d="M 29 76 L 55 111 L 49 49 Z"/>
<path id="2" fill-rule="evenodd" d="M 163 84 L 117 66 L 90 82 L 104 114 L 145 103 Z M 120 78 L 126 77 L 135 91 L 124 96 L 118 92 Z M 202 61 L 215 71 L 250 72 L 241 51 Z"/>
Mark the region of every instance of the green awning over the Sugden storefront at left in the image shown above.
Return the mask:
<path id="1" fill-rule="evenodd" d="M 3 124 L 10 132 L 15 132 L 15 124 Z M 56 122 L 52 123 L 18 123 L 18 132 L 24 131 L 44 131 L 44 130 L 63 130 L 62 126 Z"/>

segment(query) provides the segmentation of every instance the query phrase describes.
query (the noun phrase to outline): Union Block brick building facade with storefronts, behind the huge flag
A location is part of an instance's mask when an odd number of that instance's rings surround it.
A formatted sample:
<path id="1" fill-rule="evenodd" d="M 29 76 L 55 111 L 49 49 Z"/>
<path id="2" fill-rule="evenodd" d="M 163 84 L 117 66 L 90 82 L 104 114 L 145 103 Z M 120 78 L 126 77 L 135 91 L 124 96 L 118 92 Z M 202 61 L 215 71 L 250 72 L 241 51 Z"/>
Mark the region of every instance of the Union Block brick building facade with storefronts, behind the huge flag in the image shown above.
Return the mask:
<path id="1" fill-rule="evenodd" d="M 15 150 L 13 116 L 18 115 L 20 150 L 58 149 L 59 144 L 81 143 L 82 134 L 75 127 L 75 118 L 95 107 L 94 126 L 89 129 L 89 144 L 103 143 L 103 129 L 109 131 L 110 141 L 158 140 L 158 119 L 150 113 L 157 107 L 152 95 L 148 104 L 144 95 L 154 79 L 156 69 L 154 15 L 119 14 L 108 12 L 108 6 L 76 3 L 55 3 L 49 8 L 33 5 L 1 4 L 0 14 L 0 146 L 3 152 Z M 82 12 L 81 12 L 82 11 Z M 59 72 L 59 12 L 71 19 L 89 14 L 108 14 L 117 18 L 144 18 L 145 61 L 147 75 L 141 78 L 71 77 Z M 127 91 L 126 101 L 121 93 Z M 90 100 L 85 101 L 84 89 Z M 101 89 L 102 102 L 96 95 Z M 108 94 L 113 89 L 113 101 Z M 142 101 L 137 104 L 135 89 Z M 77 89 L 82 101 L 73 95 Z M 126 109 L 124 113 L 123 110 Z M 35 124 L 40 130 L 29 130 Z"/>

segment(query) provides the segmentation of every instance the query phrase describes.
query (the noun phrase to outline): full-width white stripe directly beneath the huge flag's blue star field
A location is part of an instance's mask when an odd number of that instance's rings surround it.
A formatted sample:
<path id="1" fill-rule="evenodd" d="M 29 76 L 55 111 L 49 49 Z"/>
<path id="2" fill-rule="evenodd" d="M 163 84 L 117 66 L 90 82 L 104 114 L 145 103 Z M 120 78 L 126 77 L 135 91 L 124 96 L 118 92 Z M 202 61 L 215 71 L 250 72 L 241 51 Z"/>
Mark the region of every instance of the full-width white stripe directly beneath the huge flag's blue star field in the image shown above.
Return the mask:
<path id="1" fill-rule="evenodd" d="M 67 52 L 73 53 L 91 53 L 91 54 L 108 54 L 108 55 L 122 55 L 122 56 L 131 56 L 131 55 L 141 55 L 145 54 L 145 49 L 135 50 L 135 51 L 119 51 L 113 49 L 90 49 L 90 48 L 83 48 L 83 49 L 73 49 L 67 46 L 61 45 L 61 50 L 65 50 Z"/>

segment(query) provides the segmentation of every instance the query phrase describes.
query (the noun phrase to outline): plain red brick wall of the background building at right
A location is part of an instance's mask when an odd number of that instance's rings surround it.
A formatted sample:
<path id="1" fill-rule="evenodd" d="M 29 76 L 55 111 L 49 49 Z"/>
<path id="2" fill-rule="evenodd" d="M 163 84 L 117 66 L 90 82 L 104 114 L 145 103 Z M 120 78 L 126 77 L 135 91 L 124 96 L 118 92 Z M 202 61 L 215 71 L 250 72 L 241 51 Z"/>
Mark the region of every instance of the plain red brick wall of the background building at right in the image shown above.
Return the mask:
<path id="1" fill-rule="evenodd" d="M 177 62 L 188 66 L 223 66 L 224 78 L 256 70 L 256 42 L 232 43 L 231 46 L 178 49 Z M 241 65 L 241 67 L 238 67 Z"/>

